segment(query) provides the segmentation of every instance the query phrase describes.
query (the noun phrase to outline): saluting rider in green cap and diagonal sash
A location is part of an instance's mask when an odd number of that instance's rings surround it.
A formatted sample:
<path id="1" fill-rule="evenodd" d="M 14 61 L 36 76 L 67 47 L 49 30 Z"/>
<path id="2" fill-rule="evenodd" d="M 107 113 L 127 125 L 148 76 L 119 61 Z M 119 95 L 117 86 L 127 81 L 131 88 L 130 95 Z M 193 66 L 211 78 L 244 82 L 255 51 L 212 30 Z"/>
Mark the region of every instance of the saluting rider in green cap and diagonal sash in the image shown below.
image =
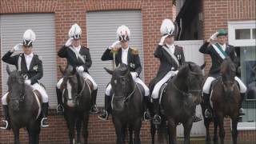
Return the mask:
<path id="1" fill-rule="evenodd" d="M 216 42 L 214 40 L 216 39 Z M 199 49 L 202 54 L 210 54 L 212 65 L 210 67 L 210 71 L 208 74 L 208 78 L 202 87 L 204 104 L 206 106 L 205 117 L 211 118 L 213 116 L 210 111 L 210 87 L 211 83 L 219 77 L 220 75 L 220 66 L 223 62 L 223 59 L 230 57 L 234 62 L 236 57 L 236 53 L 234 51 L 234 46 L 228 45 L 226 43 L 227 33 L 226 30 L 220 29 L 218 32 L 214 33 Z M 234 78 L 236 82 L 238 82 L 240 88 L 240 94 L 243 98 L 246 95 L 246 86 L 243 82 L 238 78 Z M 244 115 L 244 110 L 242 109 L 242 102 L 240 102 L 239 106 L 239 114 Z"/>

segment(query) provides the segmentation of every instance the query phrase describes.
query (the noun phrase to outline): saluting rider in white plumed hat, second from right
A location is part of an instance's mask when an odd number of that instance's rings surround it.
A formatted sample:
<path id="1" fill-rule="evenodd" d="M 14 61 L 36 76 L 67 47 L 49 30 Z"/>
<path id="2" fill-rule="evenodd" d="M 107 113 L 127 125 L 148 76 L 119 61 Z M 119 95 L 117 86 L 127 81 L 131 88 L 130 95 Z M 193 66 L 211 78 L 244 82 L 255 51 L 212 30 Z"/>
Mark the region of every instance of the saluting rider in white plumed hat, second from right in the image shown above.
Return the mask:
<path id="1" fill-rule="evenodd" d="M 175 26 L 170 19 L 164 19 L 160 28 L 162 38 L 154 51 L 154 57 L 159 58 L 160 66 L 156 78 L 152 80 L 150 87 L 151 98 L 154 103 L 154 124 L 161 123 L 159 110 L 159 91 L 162 85 L 174 75 L 178 74 L 178 68 L 185 62 L 183 48 L 174 45 Z M 153 90 L 151 90 L 153 89 Z M 200 121 L 202 118 L 194 116 L 194 122 Z"/>

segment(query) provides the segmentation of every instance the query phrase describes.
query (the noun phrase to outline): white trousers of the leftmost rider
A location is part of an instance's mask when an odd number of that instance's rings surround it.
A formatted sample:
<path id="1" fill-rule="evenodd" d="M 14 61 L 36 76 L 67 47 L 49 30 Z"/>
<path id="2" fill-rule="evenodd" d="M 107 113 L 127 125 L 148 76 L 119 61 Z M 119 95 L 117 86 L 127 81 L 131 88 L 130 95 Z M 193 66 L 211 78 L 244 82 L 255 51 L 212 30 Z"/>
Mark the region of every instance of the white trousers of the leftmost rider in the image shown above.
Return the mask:
<path id="1" fill-rule="evenodd" d="M 48 102 L 48 95 L 46 93 L 46 90 L 39 85 L 38 83 L 34 83 L 34 85 L 31 85 L 33 90 L 38 90 L 38 92 L 42 95 L 42 102 Z M 2 105 L 7 105 L 7 95 L 9 94 L 9 92 L 7 92 L 6 94 L 4 94 L 2 96 Z"/>

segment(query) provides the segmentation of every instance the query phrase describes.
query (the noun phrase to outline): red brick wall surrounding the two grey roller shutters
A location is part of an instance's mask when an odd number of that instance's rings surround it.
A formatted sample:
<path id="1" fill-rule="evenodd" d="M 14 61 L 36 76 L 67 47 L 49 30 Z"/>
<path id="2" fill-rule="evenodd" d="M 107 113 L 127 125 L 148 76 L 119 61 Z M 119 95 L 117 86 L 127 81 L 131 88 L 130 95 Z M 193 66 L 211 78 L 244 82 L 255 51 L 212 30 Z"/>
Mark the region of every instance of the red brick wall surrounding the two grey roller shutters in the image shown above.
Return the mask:
<path id="1" fill-rule="evenodd" d="M 158 69 L 159 62 L 154 58 L 153 53 L 158 39 L 160 38 L 159 28 L 162 19 L 172 18 L 171 6 L 171 0 L 76 0 L 75 2 L 71 0 L 1 0 L 0 14 L 54 13 L 56 50 L 59 50 L 66 42 L 68 30 L 74 22 L 82 27 L 82 44 L 86 45 L 86 11 L 142 10 L 144 70 L 146 84 L 148 84 L 150 80 L 154 78 L 157 72 L 156 70 Z M 57 65 L 65 66 L 66 60 L 57 58 Z M 56 69 L 58 69 L 58 67 L 56 67 Z M 59 70 L 57 77 L 61 77 Z M 1 77 L 0 86 L 2 87 Z M 0 95 L 2 95 L 2 89 L 0 89 Z M 2 118 L 0 117 L 0 119 Z M 40 135 L 41 141 L 50 144 L 68 143 L 66 122 L 62 116 L 52 113 L 50 114 L 49 120 L 50 127 L 42 130 Z M 142 141 L 146 141 L 150 138 L 148 122 L 143 122 L 141 134 Z M 115 139 L 114 135 L 114 126 L 111 121 L 102 122 L 98 120 L 97 116 L 90 116 L 90 142 L 113 143 Z M 27 143 L 27 135 L 23 129 L 21 130 L 20 138 L 22 143 Z M 13 135 L 11 131 L 0 130 L 0 143 L 12 142 Z"/>

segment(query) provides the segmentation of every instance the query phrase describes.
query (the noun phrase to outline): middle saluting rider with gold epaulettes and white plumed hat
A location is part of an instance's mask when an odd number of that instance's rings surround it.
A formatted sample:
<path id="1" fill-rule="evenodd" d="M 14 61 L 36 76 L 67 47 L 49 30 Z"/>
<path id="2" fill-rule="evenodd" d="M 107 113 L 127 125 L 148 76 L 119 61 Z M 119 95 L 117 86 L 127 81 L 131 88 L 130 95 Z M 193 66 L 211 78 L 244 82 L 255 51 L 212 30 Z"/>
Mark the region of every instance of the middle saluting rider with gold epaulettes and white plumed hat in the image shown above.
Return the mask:
<path id="1" fill-rule="evenodd" d="M 129 40 L 130 40 L 129 28 L 124 25 L 119 26 L 117 30 L 117 37 L 118 37 L 118 41 L 114 42 L 111 46 L 107 47 L 107 49 L 105 50 L 104 54 L 102 55 L 102 61 L 114 60 L 116 66 L 118 66 L 121 63 L 124 63 L 127 66 L 129 66 L 130 74 L 132 75 L 134 82 L 141 84 L 141 86 L 145 91 L 145 96 L 143 97 L 143 107 L 145 111 L 143 114 L 143 118 L 145 120 L 149 120 L 150 114 L 146 109 L 147 109 L 147 104 L 150 102 L 149 100 L 150 90 L 145 85 L 145 83 L 142 82 L 142 80 L 139 78 L 139 75 L 142 72 L 142 65 L 140 62 L 140 58 L 138 56 L 138 50 L 129 46 Z M 121 46 L 118 46 L 119 44 Z M 112 86 L 110 84 L 106 87 L 105 111 L 104 111 L 104 114 L 98 117 L 102 120 L 107 120 L 110 114 L 111 98 L 112 98 L 110 96 L 111 87 Z"/>

